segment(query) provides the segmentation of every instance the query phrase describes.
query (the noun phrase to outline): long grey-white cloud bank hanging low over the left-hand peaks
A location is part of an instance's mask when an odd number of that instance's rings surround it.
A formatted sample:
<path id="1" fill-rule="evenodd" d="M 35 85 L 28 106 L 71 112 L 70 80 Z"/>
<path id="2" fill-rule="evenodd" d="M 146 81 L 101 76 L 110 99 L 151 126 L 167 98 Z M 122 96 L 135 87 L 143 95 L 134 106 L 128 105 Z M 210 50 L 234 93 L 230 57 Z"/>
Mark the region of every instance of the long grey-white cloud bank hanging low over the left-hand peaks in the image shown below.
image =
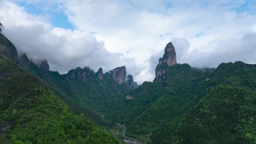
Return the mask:
<path id="1" fill-rule="evenodd" d="M 25 52 L 34 61 L 47 59 L 50 70 L 67 73 L 72 68 L 89 66 L 94 71 L 102 67 L 106 72 L 126 64 L 127 72 L 136 76 L 144 68 L 126 54 L 107 51 L 104 42 L 89 32 L 51 28 L 47 22 L 38 21 L 40 16 L 30 15 L 10 2 L 5 1 L 4 4 L 6 7 L 0 7 L 3 34 L 15 44 L 19 54 Z M 17 19 L 25 20 L 9 25 L 9 13 L 12 19 L 17 16 Z"/>

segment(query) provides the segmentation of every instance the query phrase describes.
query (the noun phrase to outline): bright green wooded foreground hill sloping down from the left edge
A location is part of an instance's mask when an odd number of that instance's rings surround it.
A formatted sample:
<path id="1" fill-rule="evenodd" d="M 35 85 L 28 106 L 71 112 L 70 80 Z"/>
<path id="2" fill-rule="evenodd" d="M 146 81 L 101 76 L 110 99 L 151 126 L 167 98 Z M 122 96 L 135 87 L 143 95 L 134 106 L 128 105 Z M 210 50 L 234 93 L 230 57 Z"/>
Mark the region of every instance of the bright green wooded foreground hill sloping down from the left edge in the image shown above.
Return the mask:
<path id="1" fill-rule="evenodd" d="M 74 115 L 42 80 L 0 55 L 1 144 L 119 144 L 107 131 Z"/>

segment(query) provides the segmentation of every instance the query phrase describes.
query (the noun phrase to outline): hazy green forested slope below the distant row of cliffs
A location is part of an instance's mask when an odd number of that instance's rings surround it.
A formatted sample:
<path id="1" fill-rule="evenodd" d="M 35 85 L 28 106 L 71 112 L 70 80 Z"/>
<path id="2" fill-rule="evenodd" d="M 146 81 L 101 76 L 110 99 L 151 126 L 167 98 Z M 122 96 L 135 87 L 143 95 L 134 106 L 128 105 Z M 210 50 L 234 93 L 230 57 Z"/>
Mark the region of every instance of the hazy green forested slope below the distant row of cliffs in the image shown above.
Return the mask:
<path id="1" fill-rule="evenodd" d="M 57 71 L 50 71 L 45 77 L 36 64 L 31 63 L 31 67 L 74 112 L 84 113 L 99 125 L 113 125 L 100 116 L 109 113 L 114 105 L 124 100 L 125 93 L 132 89 L 127 83 L 119 85 L 107 74 L 104 74 L 103 80 L 97 75 L 86 74 L 87 82 L 79 82 L 68 74 L 59 74 Z"/>

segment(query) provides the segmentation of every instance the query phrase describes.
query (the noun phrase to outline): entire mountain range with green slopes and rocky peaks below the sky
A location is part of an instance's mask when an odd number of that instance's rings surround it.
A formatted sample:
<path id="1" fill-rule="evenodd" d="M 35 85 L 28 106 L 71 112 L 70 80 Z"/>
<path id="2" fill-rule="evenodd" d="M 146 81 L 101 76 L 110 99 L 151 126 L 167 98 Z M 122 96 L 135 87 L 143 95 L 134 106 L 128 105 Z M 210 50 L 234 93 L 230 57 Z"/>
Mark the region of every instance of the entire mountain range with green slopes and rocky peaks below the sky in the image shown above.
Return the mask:
<path id="1" fill-rule="evenodd" d="M 171 42 L 153 82 L 138 86 L 125 66 L 50 71 L 0 33 L 3 144 L 122 143 L 107 131 L 115 123 L 147 144 L 254 144 L 255 92 L 255 64 L 177 64 Z"/>

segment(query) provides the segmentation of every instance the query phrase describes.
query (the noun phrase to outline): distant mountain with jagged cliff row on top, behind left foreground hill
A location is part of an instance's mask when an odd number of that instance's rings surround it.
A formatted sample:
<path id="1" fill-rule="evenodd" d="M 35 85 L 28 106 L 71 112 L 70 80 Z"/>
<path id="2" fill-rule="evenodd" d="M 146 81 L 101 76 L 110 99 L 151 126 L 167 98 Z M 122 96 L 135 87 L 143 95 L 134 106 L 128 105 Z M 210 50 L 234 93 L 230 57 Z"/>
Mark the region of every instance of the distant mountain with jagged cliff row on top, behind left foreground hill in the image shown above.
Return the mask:
<path id="1" fill-rule="evenodd" d="M 30 62 L 30 65 L 30 69 L 74 111 L 85 114 L 100 125 L 110 125 L 101 115 L 107 114 L 114 105 L 123 101 L 126 92 L 133 89 L 125 82 L 125 67 L 105 74 L 102 68 L 95 73 L 89 67 L 77 67 L 67 74 L 59 74 L 49 71 L 47 61 L 42 61 L 40 65 Z"/>

